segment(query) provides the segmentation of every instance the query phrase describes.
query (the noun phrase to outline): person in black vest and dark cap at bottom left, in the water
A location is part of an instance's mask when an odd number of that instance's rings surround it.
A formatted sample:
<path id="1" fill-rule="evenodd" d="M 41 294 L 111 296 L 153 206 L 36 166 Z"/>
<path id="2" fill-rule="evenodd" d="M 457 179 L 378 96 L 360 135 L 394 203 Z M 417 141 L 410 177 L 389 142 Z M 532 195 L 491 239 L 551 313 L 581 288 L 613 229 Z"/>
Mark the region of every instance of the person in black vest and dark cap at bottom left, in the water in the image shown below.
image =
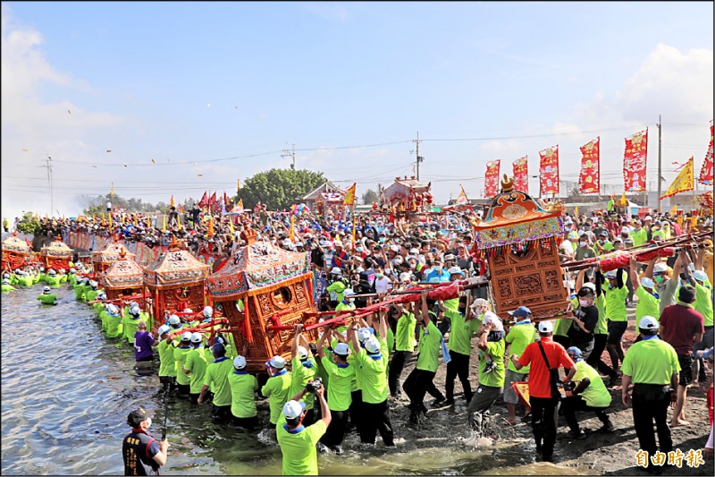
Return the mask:
<path id="1" fill-rule="evenodd" d="M 124 475 L 159 475 L 159 469 L 166 464 L 169 441 L 156 443 L 147 430 L 151 426 L 153 411 L 136 409 L 127 417 L 131 432 L 122 441 Z"/>

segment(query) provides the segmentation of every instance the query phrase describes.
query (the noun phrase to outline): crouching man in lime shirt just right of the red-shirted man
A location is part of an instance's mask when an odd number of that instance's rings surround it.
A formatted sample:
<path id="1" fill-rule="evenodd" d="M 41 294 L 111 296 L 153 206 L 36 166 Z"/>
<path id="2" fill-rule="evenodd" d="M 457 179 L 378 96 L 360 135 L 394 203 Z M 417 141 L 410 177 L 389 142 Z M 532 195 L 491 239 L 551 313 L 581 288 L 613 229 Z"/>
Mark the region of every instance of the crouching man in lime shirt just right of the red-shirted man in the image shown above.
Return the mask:
<path id="1" fill-rule="evenodd" d="M 566 350 L 576 364 L 569 371 L 564 379 L 564 386 L 573 381 L 576 387 L 566 391 L 566 397 L 561 401 L 561 411 L 568 422 L 568 439 L 586 439 L 585 432 L 578 427 L 576 421 L 576 411 L 593 411 L 596 417 L 603 423 L 601 430 L 611 432 L 613 424 L 606 415 L 606 409 L 610 406 L 610 392 L 598 371 L 594 370 L 583 359 L 581 350 L 576 346 L 571 346 Z"/>

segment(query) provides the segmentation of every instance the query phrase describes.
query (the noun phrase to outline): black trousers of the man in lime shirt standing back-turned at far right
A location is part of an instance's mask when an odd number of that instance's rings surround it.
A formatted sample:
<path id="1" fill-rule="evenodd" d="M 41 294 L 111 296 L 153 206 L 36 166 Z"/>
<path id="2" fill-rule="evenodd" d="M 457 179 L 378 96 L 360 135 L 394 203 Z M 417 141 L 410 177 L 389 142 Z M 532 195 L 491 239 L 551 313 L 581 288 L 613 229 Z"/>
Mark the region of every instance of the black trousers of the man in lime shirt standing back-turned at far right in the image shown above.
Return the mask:
<path id="1" fill-rule="evenodd" d="M 650 389 L 649 389 L 650 388 Z M 631 396 L 633 405 L 633 424 L 635 435 L 638 436 L 638 443 L 641 450 L 649 455 L 655 454 L 655 433 L 653 432 L 653 421 L 658 430 L 658 442 L 660 452 L 668 454 L 673 450 L 673 439 L 670 438 L 670 428 L 668 425 L 668 406 L 670 405 L 670 393 L 653 398 L 656 394 L 653 389 L 662 388 L 648 384 L 636 384 Z M 670 391 L 671 393 L 673 391 Z M 651 395 L 651 396 L 649 396 Z"/>

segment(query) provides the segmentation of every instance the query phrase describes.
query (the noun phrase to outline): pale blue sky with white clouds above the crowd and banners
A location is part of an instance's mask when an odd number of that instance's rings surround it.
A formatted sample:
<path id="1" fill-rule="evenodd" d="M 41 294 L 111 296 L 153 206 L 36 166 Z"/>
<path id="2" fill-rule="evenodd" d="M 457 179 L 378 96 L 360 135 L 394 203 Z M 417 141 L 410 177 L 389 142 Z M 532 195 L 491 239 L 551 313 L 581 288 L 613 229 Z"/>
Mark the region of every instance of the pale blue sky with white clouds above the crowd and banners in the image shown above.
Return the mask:
<path id="1" fill-rule="evenodd" d="M 556 144 L 575 181 L 578 147 L 596 136 L 601 183 L 622 192 L 623 139 L 646 126 L 655 187 L 659 114 L 668 181 L 690 156 L 697 173 L 708 146 L 712 9 L 4 2 L 2 213 L 50 211 L 47 153 L 68 216 L 112 181 L 152 202 L 233 192 L 289 166 L 287 143 L 299 168 L 357 181 L 360 195 L 413 174 L 417 131 L 438 202 L 460 183 L 481 196 L 490 160 L 510 174 L 526 155 L 536 175 Z"/>

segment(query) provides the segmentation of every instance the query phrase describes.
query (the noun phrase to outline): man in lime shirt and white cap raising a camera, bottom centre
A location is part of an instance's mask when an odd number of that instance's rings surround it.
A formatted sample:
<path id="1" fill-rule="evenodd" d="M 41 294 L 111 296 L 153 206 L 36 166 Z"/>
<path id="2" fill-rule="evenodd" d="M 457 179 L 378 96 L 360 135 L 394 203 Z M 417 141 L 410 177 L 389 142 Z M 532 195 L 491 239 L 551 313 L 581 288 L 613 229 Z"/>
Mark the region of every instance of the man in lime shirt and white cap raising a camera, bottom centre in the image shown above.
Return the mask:
<path id="1" fill-rule="evenodd" d="M 303 398 L 313 393 L 320 403 L 320 421 L 304 426 L 306 403 Z M 275 426 L 278 445 L 283 458 L 283 475 L 317 475 L 318 456 L 315 445 L 323 437 L 331 422 L 331 413 L 325 401 L 325 388 L 320 379 L 309 381 L 297 395 L 283 405 L 282 417 Z M 285 420 L 283 422 L 283 420 Z"/>

